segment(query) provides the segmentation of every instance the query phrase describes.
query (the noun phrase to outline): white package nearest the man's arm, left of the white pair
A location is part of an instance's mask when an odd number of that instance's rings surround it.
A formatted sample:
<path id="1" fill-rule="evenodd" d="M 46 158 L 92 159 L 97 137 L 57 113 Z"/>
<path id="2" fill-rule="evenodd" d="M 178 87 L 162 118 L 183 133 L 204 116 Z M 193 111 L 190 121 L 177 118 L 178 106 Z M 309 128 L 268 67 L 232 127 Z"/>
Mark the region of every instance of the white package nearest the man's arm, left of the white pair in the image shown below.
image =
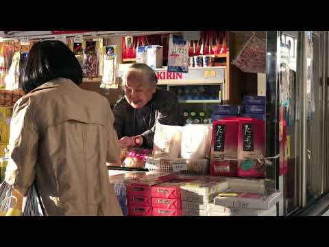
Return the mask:
<path id="1" fill-rule="evenodd" d="M 182 143 L 182 127 L 156 124 L 154 133 L 153 156 L 178 158 Z"/>

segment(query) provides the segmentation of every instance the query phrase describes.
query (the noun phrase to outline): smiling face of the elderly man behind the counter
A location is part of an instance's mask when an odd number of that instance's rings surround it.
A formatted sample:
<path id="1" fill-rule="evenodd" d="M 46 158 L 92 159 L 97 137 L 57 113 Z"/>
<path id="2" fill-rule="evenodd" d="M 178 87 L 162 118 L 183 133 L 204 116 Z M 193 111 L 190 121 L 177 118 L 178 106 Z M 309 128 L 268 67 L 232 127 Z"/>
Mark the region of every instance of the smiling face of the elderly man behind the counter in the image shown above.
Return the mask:
<path id="1" fill-rule="evenodd" d="M 128 73 L 125 83 L 125 99 L 136 109 L 143 108 L 156 92 L 156 84 L 151 85 L 147 76 L 140 71 Z"/>

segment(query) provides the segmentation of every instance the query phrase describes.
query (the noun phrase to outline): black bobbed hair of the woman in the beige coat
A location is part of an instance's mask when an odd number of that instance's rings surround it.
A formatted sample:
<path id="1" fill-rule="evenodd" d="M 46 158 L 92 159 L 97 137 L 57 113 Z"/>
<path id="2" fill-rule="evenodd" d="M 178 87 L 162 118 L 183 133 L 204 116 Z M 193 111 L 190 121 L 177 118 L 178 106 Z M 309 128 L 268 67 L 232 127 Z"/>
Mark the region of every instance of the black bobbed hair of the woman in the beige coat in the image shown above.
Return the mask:
<path id="1" fill-rule="evenodd" d="M 75 55 L 60 40 L 35 43 L 25 60 L 19 75 L 19 84 L 25 93 L 57 78 L 82 83 L 83 73 Z"/>

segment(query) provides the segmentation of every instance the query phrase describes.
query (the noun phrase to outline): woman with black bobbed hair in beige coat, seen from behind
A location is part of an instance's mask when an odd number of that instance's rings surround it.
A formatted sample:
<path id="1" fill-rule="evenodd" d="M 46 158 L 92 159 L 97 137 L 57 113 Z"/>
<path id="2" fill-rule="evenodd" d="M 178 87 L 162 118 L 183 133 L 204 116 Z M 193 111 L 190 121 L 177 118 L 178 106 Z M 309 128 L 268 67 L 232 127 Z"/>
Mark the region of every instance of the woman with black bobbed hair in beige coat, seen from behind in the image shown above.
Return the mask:
<path id="1" fill-rule="evenodd" d="M 25 196 L 36 181 L 46 215 L 122 215 L 106 162 L 119 163 L 110 104 L 85 91 L 82 69 L 58 40 L 36 43 L 20 75 L 5 181 Z"/>

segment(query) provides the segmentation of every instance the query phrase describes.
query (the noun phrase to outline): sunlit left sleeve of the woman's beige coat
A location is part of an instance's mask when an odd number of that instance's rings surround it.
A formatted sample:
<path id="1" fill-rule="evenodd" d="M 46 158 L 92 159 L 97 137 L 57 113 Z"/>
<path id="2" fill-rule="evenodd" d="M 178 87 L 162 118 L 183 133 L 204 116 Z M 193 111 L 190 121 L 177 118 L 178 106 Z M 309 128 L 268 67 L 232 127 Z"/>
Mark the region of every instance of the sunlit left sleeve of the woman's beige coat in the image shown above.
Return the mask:
<path id="1" fill-rule="evenodd" d="M 10 124 L 10 160 L 5 181 L 25 196 L 36 177 L 38 128 L 27 104 L 16 104 Z"/>

